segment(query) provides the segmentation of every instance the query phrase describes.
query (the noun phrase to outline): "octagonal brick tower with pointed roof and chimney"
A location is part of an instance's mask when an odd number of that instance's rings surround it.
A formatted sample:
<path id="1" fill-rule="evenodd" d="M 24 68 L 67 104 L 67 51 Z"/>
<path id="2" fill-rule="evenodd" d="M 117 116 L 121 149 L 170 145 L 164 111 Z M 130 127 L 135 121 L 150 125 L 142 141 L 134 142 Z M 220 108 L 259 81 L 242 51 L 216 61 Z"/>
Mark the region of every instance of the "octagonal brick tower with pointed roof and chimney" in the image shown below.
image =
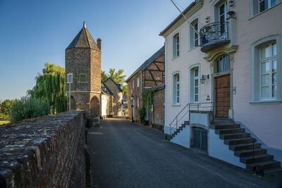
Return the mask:
<path id="1" fill-rule="evenodd" d="M 71 90 L 70 77 L 73 77 Z M 99 119 L 101 111 L 101 39 L 97 39 L 97 44 L 94 42 L 85 22 L 73 42 L 66 48 L 66 92 L 68 110 L 71 104 L 71 110 L 84 110 L 86 118 Z"/>

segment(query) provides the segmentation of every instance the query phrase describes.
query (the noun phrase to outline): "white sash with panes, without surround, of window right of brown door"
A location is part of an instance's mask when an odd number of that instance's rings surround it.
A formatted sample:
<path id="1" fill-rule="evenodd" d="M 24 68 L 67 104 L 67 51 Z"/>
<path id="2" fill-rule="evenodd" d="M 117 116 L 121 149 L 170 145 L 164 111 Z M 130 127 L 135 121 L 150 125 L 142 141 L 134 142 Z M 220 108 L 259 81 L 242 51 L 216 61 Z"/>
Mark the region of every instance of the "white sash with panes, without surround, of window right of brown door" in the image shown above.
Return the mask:
<path id="1" fill-rule="evenodd" d="M 276 43 L 268 44 L 259 49 L 259 93 L 260 99 L 276 98 L 277 90 L 277 59 Z"/>

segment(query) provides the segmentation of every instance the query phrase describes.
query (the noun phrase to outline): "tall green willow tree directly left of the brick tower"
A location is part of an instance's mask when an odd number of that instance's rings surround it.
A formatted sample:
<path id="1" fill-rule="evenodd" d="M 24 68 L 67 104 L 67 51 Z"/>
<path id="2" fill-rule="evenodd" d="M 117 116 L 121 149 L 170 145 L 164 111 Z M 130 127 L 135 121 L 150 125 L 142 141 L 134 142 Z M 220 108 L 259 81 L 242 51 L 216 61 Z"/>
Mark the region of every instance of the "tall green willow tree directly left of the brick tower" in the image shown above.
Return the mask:
<path id="1" fill-rule="evenodd" d="M 36 84 L 30 95 L 35 99 L 45 99 L 53 114 L 66 111 L 65 69 L 47 62 L 42 73 L 35 77 Z"/>

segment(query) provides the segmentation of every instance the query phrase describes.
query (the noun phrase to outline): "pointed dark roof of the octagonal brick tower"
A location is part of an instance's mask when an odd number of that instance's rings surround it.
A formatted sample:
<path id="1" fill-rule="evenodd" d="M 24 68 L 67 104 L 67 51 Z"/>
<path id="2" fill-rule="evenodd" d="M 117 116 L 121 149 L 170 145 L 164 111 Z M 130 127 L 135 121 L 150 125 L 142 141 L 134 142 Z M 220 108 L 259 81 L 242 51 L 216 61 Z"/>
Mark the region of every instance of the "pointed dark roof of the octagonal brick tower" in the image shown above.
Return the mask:
<path id="1" fill-rule="evenodd" d="M 78 35 L 76 35 L 75 39 L 73 39 L 73 42 L 71 42 L 66 49 L 72 48 L 95 49 L 100 51 L 97 44 L 94 42 L 94 39 L 87 30 L 85 22 L 83 22 L 83 27 L 80 32 L 78 32 Z"/>

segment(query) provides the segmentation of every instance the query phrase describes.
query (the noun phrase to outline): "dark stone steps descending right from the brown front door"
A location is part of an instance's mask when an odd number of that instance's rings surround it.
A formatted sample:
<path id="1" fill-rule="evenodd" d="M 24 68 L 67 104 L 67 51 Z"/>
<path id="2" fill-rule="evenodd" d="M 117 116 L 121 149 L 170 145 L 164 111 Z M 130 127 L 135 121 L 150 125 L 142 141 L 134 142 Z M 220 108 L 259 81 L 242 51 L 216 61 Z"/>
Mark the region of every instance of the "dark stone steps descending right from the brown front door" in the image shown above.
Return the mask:
<path id="1" fill-rule="evenodd" d="M 246 164 L 247 170 L 256 172 L 258 175 L 276 173 L 281 170 L 281 162 L 274 161 L 274 156 L 266 153 L 261 144 L 245 132 L 239 124 L 230 122 L 216 122 L 211 126 L 224 144 L 234 151 L 234 155 L 240 158 L 241 163 Z"/>

